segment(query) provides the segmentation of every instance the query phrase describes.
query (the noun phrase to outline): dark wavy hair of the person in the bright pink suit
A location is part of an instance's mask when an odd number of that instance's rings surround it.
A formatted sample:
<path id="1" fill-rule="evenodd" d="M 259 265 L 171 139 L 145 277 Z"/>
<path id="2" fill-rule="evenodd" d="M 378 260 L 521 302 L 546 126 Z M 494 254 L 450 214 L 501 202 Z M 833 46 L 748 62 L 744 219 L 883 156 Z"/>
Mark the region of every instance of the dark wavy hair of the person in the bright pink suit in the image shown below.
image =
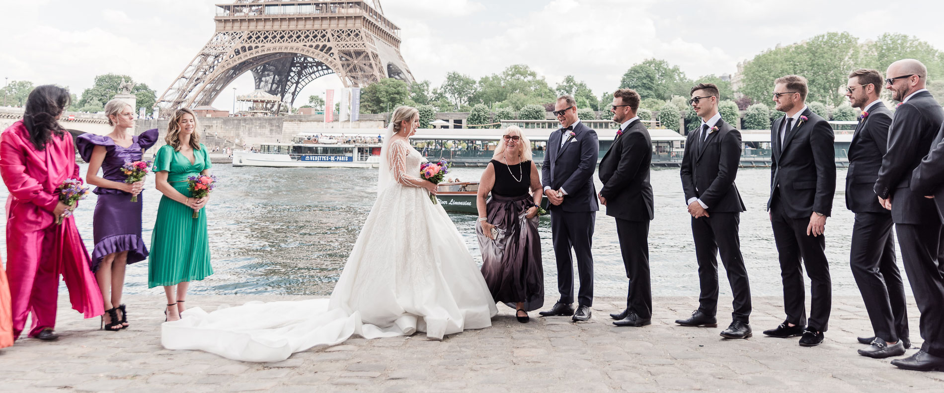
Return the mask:
<path id="1" fill-rule="evenodd" d="M 55 85 L 42 85 L 29 93 L 23 112 L 23 125 L 36 150 L 45 150 L 46 143 L 52 141 L 53 135 L 65 135 L 58 118 L 71 100 L 69 90 Z"/>

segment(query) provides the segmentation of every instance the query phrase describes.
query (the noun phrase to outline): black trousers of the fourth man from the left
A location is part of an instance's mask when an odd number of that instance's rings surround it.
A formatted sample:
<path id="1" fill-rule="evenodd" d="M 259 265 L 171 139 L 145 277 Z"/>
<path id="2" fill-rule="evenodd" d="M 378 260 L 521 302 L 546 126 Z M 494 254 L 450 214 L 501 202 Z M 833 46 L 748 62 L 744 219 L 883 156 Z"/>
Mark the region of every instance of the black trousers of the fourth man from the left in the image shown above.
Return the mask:
<path id="1" fill-rule="evenodd" d="M 784 282 L 784 311 L 786 321 L 807 325 L 803 267 L 810 277 L 811 330 L 825 332 L 833 307 L 833 281 L 826 260 L 826 237 L 806 235 L 809 218 L 792 219 L 784 212 L 783 203 L 774 198 L 771 205 L 773 238 L 780 254 L 780 276 Z M 813 214 L 812 212 L 810 213 Z"/>

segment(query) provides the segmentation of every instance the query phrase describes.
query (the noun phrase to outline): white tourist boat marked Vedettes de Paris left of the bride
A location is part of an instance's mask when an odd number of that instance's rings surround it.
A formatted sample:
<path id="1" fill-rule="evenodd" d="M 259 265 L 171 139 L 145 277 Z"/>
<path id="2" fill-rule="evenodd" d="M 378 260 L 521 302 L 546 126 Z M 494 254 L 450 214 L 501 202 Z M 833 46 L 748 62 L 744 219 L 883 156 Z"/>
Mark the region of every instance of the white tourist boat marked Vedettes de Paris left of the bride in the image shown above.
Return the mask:
<path id="1" fill-rule="evenodd" d="M 299 134 L 292 143 L 263 143 L 258 151 L 234 151 L 234 167 L 378 168 L 380 143 L 358 137 L 342 142 Z"/>

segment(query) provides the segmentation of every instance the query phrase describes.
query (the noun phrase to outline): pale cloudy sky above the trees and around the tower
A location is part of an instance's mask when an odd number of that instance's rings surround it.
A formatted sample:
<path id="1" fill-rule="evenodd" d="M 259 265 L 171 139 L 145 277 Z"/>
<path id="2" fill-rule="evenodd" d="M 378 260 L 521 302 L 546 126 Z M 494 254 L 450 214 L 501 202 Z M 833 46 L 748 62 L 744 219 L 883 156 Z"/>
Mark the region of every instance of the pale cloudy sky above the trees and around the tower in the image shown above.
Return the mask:
<path id="1" fill-rule="evenodd" d="M 213 34 L 214 4 L 227 0 L 3 0 L 0 76 L 56 83 L 76 93 L 97 74 L 128 74 L 167 89 Z M 479 78 L 515 63 L 553 86 L 567 74 L 596 93 L 648 57 L 685 74 L 733 74 L 738 61 L 827 31 L 861 40 L 903 33 L 944 49 L 938 1 L 794 0 L 381 0 L 402 29 L 401 50 L 417 79 L 450 71 Z M 233 83 L 252 90 L 244 74 Z M 341 87 L 335 75 L 303 92 Z M 230 90 L 230 89 L 228 89 Z M 230 90 L 231 91 L 231 90 Z M 214 103 L 231 107 L 232 94 Z M 300 103 L 296 103 L 300 105 Z"/>

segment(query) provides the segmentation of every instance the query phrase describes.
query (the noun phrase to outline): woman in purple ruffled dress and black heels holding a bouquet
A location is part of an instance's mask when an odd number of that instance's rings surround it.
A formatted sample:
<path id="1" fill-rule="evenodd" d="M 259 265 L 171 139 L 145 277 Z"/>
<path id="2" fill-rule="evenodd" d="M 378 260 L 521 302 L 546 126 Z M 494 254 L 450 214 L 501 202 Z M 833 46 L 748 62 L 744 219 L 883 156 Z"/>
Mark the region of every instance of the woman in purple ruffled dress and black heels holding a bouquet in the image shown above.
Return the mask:
<path id="1" fill-rule="evenodd" d="M 82 159 L 89 163 L 86 182 L 98 186 L 93 191 L 98 194 L 98 203 L 93 218 L 92 271 L 104 300 L 102 323 L 105 330 L 118 331 L 128 326 L 126 307 L 121 303 L 125 267 L 147 258 L 147 248 L 141 238 L 143 197 L 138 195 L 144 182 L 125 183 L 127 175 L 122 167 L 126 161 L 142 159 L 144 151 L 158 140 L 158 130 L 131 136 L 134 109 L 123 101 L 109 101 L 105 114 L 114 127 L 111 134 L 83 134 L 78 137 L 77 147 Z M 101 176 L 99 168 L 103 172 Z M 137 202 L 131 202 L 132 196 L 138 197 Z"/>

